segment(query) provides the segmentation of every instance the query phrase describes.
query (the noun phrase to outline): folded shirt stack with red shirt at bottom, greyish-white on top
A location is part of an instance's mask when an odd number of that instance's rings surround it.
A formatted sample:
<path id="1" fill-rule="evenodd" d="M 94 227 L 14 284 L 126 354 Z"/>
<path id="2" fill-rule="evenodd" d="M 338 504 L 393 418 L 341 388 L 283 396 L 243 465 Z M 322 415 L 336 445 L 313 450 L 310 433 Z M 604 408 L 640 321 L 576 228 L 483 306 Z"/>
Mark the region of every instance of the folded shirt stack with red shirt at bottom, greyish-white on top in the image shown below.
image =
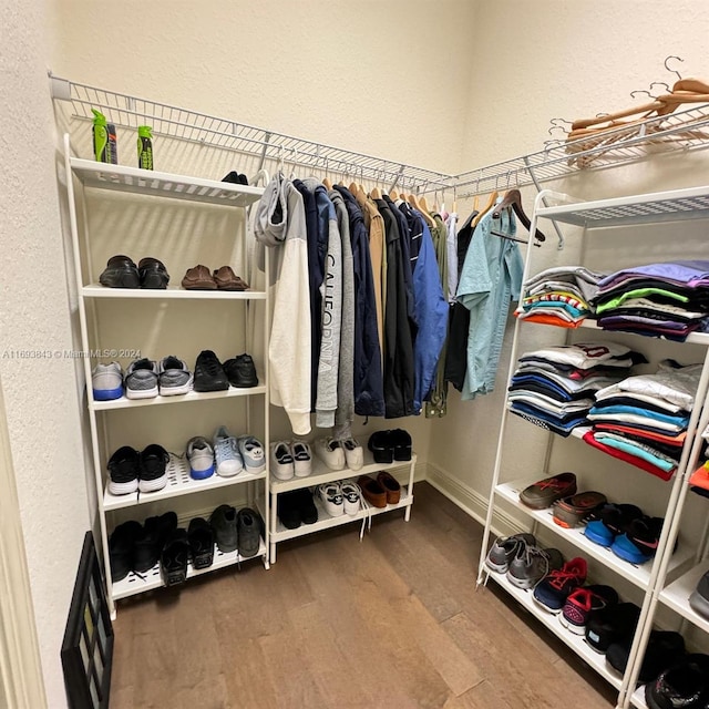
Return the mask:
<path id="1" fill-rule="evenodd" d="M 596 392 L 584 441 L 662 480 L 682 451 L 701 364 L 660 362 L 654 374 L 629 377 Z"/>

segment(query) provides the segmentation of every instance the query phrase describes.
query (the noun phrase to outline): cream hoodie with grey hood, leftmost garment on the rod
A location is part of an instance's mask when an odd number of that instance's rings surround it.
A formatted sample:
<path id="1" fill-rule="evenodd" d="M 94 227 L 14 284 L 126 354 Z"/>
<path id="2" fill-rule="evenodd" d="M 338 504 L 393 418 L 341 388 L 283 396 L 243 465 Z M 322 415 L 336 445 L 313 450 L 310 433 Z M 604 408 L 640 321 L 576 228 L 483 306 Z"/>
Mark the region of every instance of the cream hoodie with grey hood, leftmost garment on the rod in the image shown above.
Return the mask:
<path id="1" fill-rule="evenodd" d="M 281 174 L 256 207 L 254 234 L 273 249 L 268 359 L 270 400 L 282 407 L 296 435 L 310 433 L 310 289 L 306 215 L 300 193 Z"/>

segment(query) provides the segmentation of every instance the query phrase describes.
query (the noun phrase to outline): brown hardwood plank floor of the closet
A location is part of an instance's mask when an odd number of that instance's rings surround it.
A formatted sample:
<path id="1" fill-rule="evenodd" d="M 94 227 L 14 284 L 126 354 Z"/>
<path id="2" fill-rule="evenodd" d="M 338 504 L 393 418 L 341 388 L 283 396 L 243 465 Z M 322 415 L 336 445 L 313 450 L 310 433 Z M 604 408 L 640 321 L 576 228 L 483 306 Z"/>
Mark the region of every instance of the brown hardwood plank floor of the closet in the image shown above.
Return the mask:
<path id="1" fill-rule="evenodd" d="M 119 605 L 111 709 L 600 709 L 616 692 L 499 589 L 427 483 L 373 520 Z"/>

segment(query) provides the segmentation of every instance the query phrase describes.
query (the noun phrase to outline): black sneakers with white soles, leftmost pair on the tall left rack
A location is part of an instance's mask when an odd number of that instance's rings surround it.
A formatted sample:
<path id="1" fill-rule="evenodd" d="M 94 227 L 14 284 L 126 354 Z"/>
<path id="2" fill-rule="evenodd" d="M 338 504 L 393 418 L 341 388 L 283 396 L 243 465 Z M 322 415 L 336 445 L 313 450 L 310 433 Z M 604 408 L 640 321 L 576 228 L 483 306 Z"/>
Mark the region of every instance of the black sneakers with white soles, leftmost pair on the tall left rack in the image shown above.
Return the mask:
<path id="1" fill-rule="evenodd" d="M 109 492 L 127 495 L 133 492 L 156 492 L 167 484 L 169 454 L 157 443 L 143 451 L 123 445 L 109 459 Z"/>

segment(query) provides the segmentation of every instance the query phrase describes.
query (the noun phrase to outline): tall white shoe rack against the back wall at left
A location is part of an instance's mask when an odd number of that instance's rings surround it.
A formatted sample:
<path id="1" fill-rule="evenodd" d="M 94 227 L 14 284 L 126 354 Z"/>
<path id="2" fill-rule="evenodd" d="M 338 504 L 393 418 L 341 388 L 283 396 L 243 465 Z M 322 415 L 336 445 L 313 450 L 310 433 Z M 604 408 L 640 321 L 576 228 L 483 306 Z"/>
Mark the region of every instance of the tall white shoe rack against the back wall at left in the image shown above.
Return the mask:
<path id="1" fill-rule="evenodd" d="M 136 167 L 127 167 L 123 165 L 109 165 L 97 163 L 92 160 L 84 160 L 72 155 L 72 145 L 69 134 L 64 136 L 64 168 L 65 184 L 69 198 L 69 216 L 71 227 L 73 267 L 76 279 L 78 309 L 81 329 L 81 348 L 83 351 L 84 377 L 86 382 L 85 404 L 88 408 L 89 425 L 91 431 L 91 450 L 92 461 L 95 476 L 96 487 L 96 506 L 97 506 L 97 525 L 100 528 L 101 544 L 100 548 L 103 554 L 103 566 L 105 569 L 105 583 L 107 599 L 112 615 L 115 615 L 115 602 L 120 598 L 144 593 L 160 586 L 163 586 L 163 578 L 160 571 L 160 563 L 148 571 L 146 574 L 137 575 L 129 574 L 127 577 L 114 580 L 111 577 L 111 564 L 109 554 L 109 537 L 112 530 L 120 521 L 125 518 L 136 518 L 143 522 L 153 514 L 160 514 L 165 511 L 166 501 L 182 499 L 179 524 L 186 526 L 188 520 L 193 516 L 206 516 L 208 514 L 205 503 L 202 502 L 203 495 L 209 496 L 209 493 L 217 491 L 220 502 L 240 506 L 240 502 L 246 499 L 247 504 L 261 508 L 265 522 L 265 536 L 261 538 L 258 554 L 253 558 L 260 558 L 268 568 L 268 549 L 269 549 L 269 495 L 268 495 L 268 467 L 260 474 L 249 474 L 242 472 L 233 477 L 220 477 L 216 473 L 206 480 L 193 480 L 189 476 L 188 463 L 184 458 L 184 445 L 192 435 L 203 434 L 210 439 L 213 430 L 201 430 L 199 421 L 209 410 L 212 405 L 226 407 L 227 404 L 217 404 L 216 402 L 228 400 L 228 411 L 238 413 L 239 421 L 246 421 L 246 430 L 237 430 L 236 427 L 229 424 L 229 421 L 222 421 L 227 424 L 233 434 L 250 433 L 256 435 L 264 444 L 266 458 L 268 458 L 269 446 L 269 400 L 268 400 L 268 362 L 267 357 L 264 361 L 256 361 L 259 383 L 250 389 L 238 389 L 229 387 L 228 391 L 218 392 L 196 392 L 174 397 L 155 397 L 153 399 L 131 400 L 122 397 L 113 401 L 95 401 L 91 386 L 91 372 L 93 367 L 99 362 L 106 362 L 112 359 L 120 361 L 125 370 L 127 364 L 134 357 L 121 357 L 120 351 L 115 348 L 106 348 L 101 341 L 101 333 L 105 332 L 106 323 L 102 322 L 102 316 L 105 317 L 103 305 L 115 304 L 116 299 L 121 301 L 120 319 L 125 318 L 125 322 L 116 322 L 116 327 L 122 332 L 131 332 L 126 328 L 126 322 L 131 318 L 136 318 L 145 325 L 145 312 L 155 312 L 156 318 L 161 318 L 167 308 L 185 308 L 191 305 L 193 317 L 208 318 L 210 308 L 217 302 L 227 304 L 234 309 L 234 333 L 219 333 L 223 341 L 228 341 L 230 349 L 224 352 L 217 352 L 222 361 L 228 357 L 234 357 L 242 351 L 251 352 L 253 336 L 248 331 L 249 308 L 254 308 L 256 304 L 260 306 L 264 314 L 263 341 L 259 342 L 261 352 L 268 352 L 268 286 L 263 290 L 246 291 L 219 291 L 219 290 L 185 290 L 179 287 L 179 281 L 187 267 L 195 264 L 182 264 L 182 268 L 175 265 L 171 266 L 171 254 L 176 248 L 176 243 L 172 240 L 171 235 L 166 240 L 154 243 L 150 240 L 150 232 L 142 232 L 141 244 L 143 253 L 134 260 L 137 263 L 142 256 L 154 256 L 160 258 L 166 266 L 171 276 L 171 285 L 166 290 L 143 290 L 143 289 L 124 289 L 124 288 L 106 288 L 99 284 L 97 275 L 105 265 L 109 257 L 115 254 L 125 253 L 120 243 L 111 242 L 111 235 L 100 233 L 100 243 L 96 243 L 94 234 L 90 232 L 90 225 L 100 222 L 100 217 L 113 214 L 113 218 L 119 218 L 124 206 L 124 198 L 111 198 L 110 193 L 122 193 L 132 195 L 130 202 L 131 214 L 142 214 L 141 219 L 136 219 L 137 224 L 150 224 L 152 210 L 158 208 L 160 213 L 169 216 L 171 205 L 177 206 L 177 202 L 183 203 L 179 207 L 184 210 L 185 205 L 195 206 L 195 209 L 219 209 L 219 210 L 238 210 L 244 224 L 240 234 L 244 236 L 240 244 L 236 244 L 237 235 L 218 234 L 215 238 L 224 239 L 230 248 L 236 253 L 240 250 L 242 265 L 247 264 L 247 245 L 246 245 L 246 207 L 254 204 L 263 194 L 263 188 L 246 185 L 237 185 L 232 183 L 217 182 L 201 177 L 191 177 L 185 175 L 175 175 L 168 173 L 144 171 Z M 113 210 L 113 212 L 112 212 Z M 116 213 L 119 213 L 116 215 Z M 181 212 L 181 214 L 185 214 Z M 204 214 L 204 213 L 201 213 Z M 219 213 L 224 214 L 224 212 Z M 130 228 L 130 226 L 129 226 Z M 140 228 L 140 227 L 138 227 Z M 177 245 L 179 239 L 188 239 L 189 234 L 181 232 L 181 225 L 175 225 L 175 239 Z M 99 229 L 101 232 L 101 229 Z M 213 244 L 209 239 L 199 243 L 199 261 L 210 264 L 210 255 L 213 254 Z M 110 248 L 109 248 L 110 247 Z M 131 254 L 127 254 L 131 256 Z M 137 255 L 133 255 L 137 256 Z M 267 257 L 268 258 L 268 257 Z M 219 264 L 220 266 L 222 264 Z M 217 266 L 217 265 L 213 265 Z M 266 265 L 266 274 L 268 274 L 268 265 Z M 185 305 L 182 305 L 185 304 Z M 152 310 L 150 309 L 152 308 Z M 197 310 L 195 310 L 197 308 Z M 110 310 L 115 317 L 115 305 Z M 195 316 L 195 312 L 197 315 Z M 103 327 L 100 327 L 103 326 Z M 189 322 L 184 321 L 185 332 L 188 331 Z M 154 328 L 154 330 L 153 330 Z M 173 353 L 187 361 L 191 370 L 194 368 L 196 354 L 188 358 L 179 351 L 167 352 L 162 351 L 160 339 L 165 335 L 161 329 L 161 323 L 148 322 L 144 328 L 148 331 L 131 332 L 132 341 L 125 342 L 125 348 L 135 348 L 142 350 L 142 356 L 150 359 L 160 360 L 162 357 Z M 172 333 L 171 342 L 179 341 Z M 259 336 L 260 337 L 260 336 Z M 229 339 L 232 338 L 232 339 Z M 203 349 L 216 349 L 212 347 L 209 341 L 189 342 L 191 349 L 198 352 Z M 169 347 L 169 346 L 167 346 Z M 226 346 L 225 346 L 226 347 Z M 145 348 L 145 349 L 143 349 Z M 86 353 L 102 352 L 105 349 L 105 358 L 93 358 Z M 160 350 L 160 351 L 148 351 Z M 164 409 L 162 404 L 169 404 Z M 166 486 L 153 493 L 133 493 L 129 495 L 113 495 L 107 489 L 109 474 L 106 464 L 111 454 L 120 448 L 120 445 L 133 445 L 141 449 L 141 445 L 134 444 L 131 440 L 124 440 L 116 444 L 112 436 L 112 428 L 115 424 L 115 417 L 137 417 L 141 423 L 136 425 L 162 427 L 165 430 L 167 419 L 163 417 L 173 415 L 176 407 L 188 407 L 189 412 L 185 414 L 194 421 L 195 431 L 186 436 L 182 442 L 182 450 L 171 454 L 171 462 L 167 469 L 168 482 Z M 223 411 L 225 409 L 222 409 Z M 150 415 L 146 417 L 146 412 Z M 227 414 L 228 415 L 228 414 Z M 125 419 L 123 419 L 125 427 Z M 131 429 L 129 423 L 127 429 Z M 154 441 L 161 443 L 156 435 Z M 165 445 L 169 450 L 171 446 Z M 187 503 L 185 503 L 187 500 Z M 214 494 L 209 496 L 212 507 L 214 504 Z M 126 514 L 129 515 L 126 517 Z M 192 565 L 188 567 L 187 577 L 208 573 L 210 571 L 223 568 L 225 566 L 240 564 L 243 559 L 237 552 L 230 554 L 222 554 L 215 545 L 214 563 L 206 569 L 195 571 Z"/>

